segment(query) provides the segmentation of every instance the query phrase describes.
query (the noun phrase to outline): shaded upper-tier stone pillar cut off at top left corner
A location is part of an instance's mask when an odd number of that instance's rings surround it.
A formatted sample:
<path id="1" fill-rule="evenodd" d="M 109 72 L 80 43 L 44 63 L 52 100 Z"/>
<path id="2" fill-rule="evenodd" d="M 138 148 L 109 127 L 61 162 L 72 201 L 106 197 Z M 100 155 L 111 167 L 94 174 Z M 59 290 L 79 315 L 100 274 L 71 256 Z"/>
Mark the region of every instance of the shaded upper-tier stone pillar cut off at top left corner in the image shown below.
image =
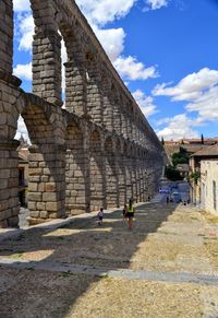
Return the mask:
<path id="1" fill-rule="evenodd" d="M 13 7 L 12 0 L 0 1 L 0 71 L 12 74 Z"/>

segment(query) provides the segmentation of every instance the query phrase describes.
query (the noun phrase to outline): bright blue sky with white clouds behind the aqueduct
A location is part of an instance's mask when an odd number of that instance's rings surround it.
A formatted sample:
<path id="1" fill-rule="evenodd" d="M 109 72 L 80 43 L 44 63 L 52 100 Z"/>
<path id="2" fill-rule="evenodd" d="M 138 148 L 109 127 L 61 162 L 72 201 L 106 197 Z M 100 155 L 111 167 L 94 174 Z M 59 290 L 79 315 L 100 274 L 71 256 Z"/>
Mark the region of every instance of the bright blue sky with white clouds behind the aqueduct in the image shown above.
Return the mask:
<path id="1" fill-rule="evenodd" d="M 13 2 L 14 73 L 31 91 L 32 12 Z M 218 137 L 218 0 L 76 3 L 159 138 Z"/>

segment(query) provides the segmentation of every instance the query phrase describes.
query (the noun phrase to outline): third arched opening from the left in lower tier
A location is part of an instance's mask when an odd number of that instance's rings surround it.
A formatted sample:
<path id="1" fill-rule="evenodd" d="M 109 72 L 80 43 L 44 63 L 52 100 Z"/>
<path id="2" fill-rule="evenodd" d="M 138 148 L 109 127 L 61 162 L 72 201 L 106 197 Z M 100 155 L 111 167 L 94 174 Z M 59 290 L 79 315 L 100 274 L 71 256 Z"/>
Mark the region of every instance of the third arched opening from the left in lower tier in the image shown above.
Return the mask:
<path id="1" fill-rule="evenodd" d="M 100 134 L 94 130 L 89 138 L 90 211 L 107 207 L 104 172 Z"/>

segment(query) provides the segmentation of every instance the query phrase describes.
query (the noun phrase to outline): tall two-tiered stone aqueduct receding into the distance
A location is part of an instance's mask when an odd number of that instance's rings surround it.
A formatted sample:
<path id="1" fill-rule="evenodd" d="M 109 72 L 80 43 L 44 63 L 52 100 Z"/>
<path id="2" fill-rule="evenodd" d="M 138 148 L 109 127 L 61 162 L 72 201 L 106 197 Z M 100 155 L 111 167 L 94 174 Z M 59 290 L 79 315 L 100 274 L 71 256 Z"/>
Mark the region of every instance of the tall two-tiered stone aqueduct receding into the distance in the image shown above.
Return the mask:
<path id="1" fill-rule="evenodd" d="M 32 141 L 29 223 L 145 201 L 162 148 L 73 0 L 31 0 L 33 94 L 13 75 L 13 2 L 0 1 L 0 227 L 17 225 L 19 116 Z M 61 98 L 61 39 L 65 109 Z"/>

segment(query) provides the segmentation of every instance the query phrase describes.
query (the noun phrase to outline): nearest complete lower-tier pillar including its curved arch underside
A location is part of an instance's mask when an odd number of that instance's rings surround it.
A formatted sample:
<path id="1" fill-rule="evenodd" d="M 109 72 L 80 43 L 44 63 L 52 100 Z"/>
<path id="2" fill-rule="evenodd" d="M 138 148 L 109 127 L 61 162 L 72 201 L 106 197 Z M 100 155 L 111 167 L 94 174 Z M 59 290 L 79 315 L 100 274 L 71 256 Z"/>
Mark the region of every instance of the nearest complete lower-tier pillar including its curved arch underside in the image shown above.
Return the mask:
<path id="1" fill-rule="evenodd" d="M 64 216 L 65 148 L 61 109 L 33 94 L 23 95 L 20 114 L 28 130 L 28 209 L 32 224 Z"/>

